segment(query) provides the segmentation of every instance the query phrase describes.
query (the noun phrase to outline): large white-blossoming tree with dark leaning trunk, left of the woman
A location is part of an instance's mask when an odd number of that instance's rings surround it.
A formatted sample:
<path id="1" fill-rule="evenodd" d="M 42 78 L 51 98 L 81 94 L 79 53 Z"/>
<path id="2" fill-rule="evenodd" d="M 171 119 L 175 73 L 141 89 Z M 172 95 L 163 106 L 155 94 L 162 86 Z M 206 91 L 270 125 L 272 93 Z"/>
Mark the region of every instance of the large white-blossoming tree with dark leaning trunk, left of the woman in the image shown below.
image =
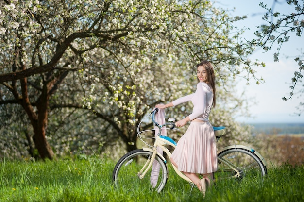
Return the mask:
<path id="1" fill-rule="evenodd" d="M 191 92 L 200 60 L 214 64 L 220 86 L 263 65 L 247 59 L 242 30 L 231 32 L 242 17 L 205 0 L 3 0 L 0 9 L 0 106 L 21 106 L 41 158 L 53 158 L 48 138 L 74 109 L 132 150 L 140 118 Z"/>

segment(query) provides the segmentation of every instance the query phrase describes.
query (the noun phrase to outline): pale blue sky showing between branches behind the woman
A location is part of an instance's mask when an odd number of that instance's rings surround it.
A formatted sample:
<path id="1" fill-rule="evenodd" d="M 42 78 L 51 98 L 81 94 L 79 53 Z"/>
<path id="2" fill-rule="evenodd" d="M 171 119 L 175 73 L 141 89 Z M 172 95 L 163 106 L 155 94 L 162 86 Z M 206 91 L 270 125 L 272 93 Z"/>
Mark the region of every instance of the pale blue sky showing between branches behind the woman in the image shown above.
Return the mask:
<path id="1" fill-rule="evenodd" d="M 259 2 L 264 2 L 268 7 L 272 7 L 274 0 L 212 0 L 214 6 L 223 9 L 232 10 L 231 16 L 244 16 L 247 19 L 237 22 L 238 28 L 249 28 L 243 37 L 253 39 L 256 26 L 263 24 L 262 17 L 265 9 L 259 6 Z M 292 6 L 288 5 L 285 0 L 277 0 L 279 3 L 272 7 L 273 11 L 279 11 L 284 14 L 294 12 Z M 303 18 L 302 18 L 303 19 Z M 237 117 L 236 120 L 244 123 L 304 123 L 304 114 L 295 116 L 296 106 L 300 101 L 304 102 L 304 95 L 298 98 L 294 95 L 292 100 L 283 101 L 282 97 L 289 97 L 291 78 L 293 72 L 299 70 L 297 63 L 294 61 L 295 56 L 300 55 L 301 45 L 304 44 L 304 36 L 298 37 L 295 34 L 290 36 L 288 43 L 283 44 L 280 51 L 279 62 L 273 61 L 273 53 L 276 48 L 264 52 L 261 48 L 256 49 L 249 57 L 251 60 L 258 59 L 266 64 L 266 67 L 259 67 L 257 78 L 262 77 L 265 80 L 263 84 L 255 84 L 254 80 L 250 85 L 246 85 L 244 79 L 237 83 L 237 93 L 241 95 L 245 92 L 245 98 L 249 99 L 249 113 L 252 118 Z M 286 58 L 286 56 L 290 56 Z"/>

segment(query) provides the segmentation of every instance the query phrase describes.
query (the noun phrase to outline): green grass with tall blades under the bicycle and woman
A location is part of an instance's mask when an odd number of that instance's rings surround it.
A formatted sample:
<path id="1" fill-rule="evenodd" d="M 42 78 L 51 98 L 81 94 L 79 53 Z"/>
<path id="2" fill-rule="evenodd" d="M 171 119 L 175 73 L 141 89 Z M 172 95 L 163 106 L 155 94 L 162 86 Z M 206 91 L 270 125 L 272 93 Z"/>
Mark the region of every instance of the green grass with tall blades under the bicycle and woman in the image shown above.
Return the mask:
<path id="1" fill-rule="evenodd" d="M 57 161 L 0 161 L 0 202 L 298 202 L 304 201 L 304 167 L 268 167 L 264 181 L 221 181 L 203 199 L 197 188 L 174 174 L 157 194 L 124 191 L 112 184 L 116 164 L 109 157 Z"/>

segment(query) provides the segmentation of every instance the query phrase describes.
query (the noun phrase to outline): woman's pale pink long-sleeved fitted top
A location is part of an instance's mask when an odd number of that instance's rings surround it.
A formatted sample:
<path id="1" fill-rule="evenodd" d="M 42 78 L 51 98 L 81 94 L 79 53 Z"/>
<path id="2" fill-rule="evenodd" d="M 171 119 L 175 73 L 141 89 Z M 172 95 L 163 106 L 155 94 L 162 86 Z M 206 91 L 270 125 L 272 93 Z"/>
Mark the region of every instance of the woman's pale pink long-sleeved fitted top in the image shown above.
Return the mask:
<path id="1" fill-rule="evenodd" d="M 190 120 L 209 120 L 209 113 L 213 102 L 213 92 L 208 84 L 204 82 L 198 83 L 195 93 L 181 97 L 172 101 L 172 103 L 176 106 L 187 101 L 192 101 L 193 103 L 192 114 L 189 115 Z"/>

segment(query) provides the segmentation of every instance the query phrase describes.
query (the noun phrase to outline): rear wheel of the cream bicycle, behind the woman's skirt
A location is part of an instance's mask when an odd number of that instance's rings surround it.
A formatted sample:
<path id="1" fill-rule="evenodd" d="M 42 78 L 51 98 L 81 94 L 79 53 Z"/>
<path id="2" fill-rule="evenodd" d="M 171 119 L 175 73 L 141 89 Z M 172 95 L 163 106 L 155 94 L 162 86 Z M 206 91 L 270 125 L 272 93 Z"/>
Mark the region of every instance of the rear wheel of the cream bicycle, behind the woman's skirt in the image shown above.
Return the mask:
<path id="1" fill-rule="evenodd" d="M 267 168 L 263 161 L 254 152 L 244 148 L 230 148 L 218 153 L 218 158 L 232 164 L 239 172 L 238 179 L 250 177 L 263 179 L 267 174 Z M 215 172 L 215 178 L 232 178 L 236 171 L 218 160 L 218 171 Z"/>

